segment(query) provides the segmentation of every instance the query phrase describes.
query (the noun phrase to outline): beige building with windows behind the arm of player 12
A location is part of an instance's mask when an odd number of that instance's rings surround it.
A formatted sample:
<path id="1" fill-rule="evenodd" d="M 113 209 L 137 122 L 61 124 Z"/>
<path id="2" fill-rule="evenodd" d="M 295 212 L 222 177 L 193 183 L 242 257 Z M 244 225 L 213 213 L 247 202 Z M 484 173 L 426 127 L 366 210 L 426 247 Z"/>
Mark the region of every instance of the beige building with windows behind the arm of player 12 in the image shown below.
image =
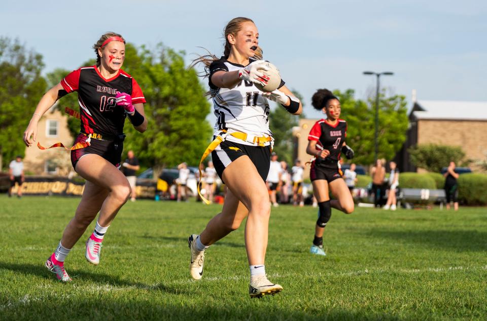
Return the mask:
<path id="1" fill-rule="evenodd" d="M 49 147 L 61 142 L 68 148 L 73 144 L 73 137 L 67 127 L 67 117 L 56 108 L 56 105 L 51 107 L 39 121 L 37 142 L 25 149 L 23 162 L 27 173 L 66 176 L 72 169 L 71 154 L 68 150 L 59 147 L 41 150 L 37 147 L 37 143 Z"/>

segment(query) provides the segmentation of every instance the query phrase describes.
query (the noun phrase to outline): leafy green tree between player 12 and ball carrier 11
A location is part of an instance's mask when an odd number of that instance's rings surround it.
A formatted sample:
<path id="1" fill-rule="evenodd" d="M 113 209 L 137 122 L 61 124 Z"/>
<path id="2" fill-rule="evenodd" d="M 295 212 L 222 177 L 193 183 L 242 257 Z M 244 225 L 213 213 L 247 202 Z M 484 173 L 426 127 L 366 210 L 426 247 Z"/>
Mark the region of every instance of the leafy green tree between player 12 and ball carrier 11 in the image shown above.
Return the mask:
<path id="1" fill-rule="evenodd" d="M 155 168 L 182 162 L 197 165 L 212 138 L 206 121 L 210 104 L 194 69 L 184 63 L 184 52 L 159 44 L 155 50 L 125 47 L 123 69 L 141 86 L 147 103 L 148 129 L 136 132 L 126 120 L 124 149 L 132 149 L 141 162 Z"/>

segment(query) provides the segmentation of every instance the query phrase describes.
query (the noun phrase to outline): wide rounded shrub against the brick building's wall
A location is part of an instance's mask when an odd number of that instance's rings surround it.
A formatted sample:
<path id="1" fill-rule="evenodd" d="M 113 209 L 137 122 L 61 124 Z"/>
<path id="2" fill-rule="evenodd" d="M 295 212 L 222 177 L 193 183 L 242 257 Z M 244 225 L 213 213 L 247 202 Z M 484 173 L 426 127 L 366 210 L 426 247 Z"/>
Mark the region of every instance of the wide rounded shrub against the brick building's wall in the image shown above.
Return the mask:
<path id="1" fill-rule="evenodd" d="M 465 152 L 460 146 L 447 146 L 436 144 L 424 144 L 408 149 L 411 163 L 429 172 L 439 173 L 450 162 L 457 166 L 468 166 L 469 160 L 465 160 Z"/>

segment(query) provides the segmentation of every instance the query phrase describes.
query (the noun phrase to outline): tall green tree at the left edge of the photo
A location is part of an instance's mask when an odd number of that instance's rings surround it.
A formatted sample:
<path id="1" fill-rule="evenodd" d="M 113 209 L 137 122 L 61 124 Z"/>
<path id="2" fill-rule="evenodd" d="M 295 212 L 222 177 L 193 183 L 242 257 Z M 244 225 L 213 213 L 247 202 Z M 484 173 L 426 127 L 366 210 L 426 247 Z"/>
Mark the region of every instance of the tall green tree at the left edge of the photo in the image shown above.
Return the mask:
<path id="1" fill-rule="evenodd" d="M 43 67 L 42 55 L 27 50 L 18 39 L 0 37 L 0 169 L 3 158 L 25 152 L 23 131 L 46 91 Z"/>

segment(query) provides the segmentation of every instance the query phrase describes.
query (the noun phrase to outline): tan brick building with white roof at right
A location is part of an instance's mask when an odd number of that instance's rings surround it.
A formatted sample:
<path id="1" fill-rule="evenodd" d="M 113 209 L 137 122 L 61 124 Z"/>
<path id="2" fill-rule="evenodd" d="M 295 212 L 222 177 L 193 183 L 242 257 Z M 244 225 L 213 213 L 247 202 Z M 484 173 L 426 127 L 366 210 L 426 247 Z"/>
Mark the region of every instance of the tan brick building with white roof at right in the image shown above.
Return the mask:
<path id="1" fill-rule="evenodd" d="M 407 149 L 422 144 L 462 147 L 471 168 L 487 159 L 487 102 L 422 100 L 409 114 L 407 140 L 397 154 L 400 170 L 416 171 Z M 445 164 L 447 166 L 448 164 Z"/>

